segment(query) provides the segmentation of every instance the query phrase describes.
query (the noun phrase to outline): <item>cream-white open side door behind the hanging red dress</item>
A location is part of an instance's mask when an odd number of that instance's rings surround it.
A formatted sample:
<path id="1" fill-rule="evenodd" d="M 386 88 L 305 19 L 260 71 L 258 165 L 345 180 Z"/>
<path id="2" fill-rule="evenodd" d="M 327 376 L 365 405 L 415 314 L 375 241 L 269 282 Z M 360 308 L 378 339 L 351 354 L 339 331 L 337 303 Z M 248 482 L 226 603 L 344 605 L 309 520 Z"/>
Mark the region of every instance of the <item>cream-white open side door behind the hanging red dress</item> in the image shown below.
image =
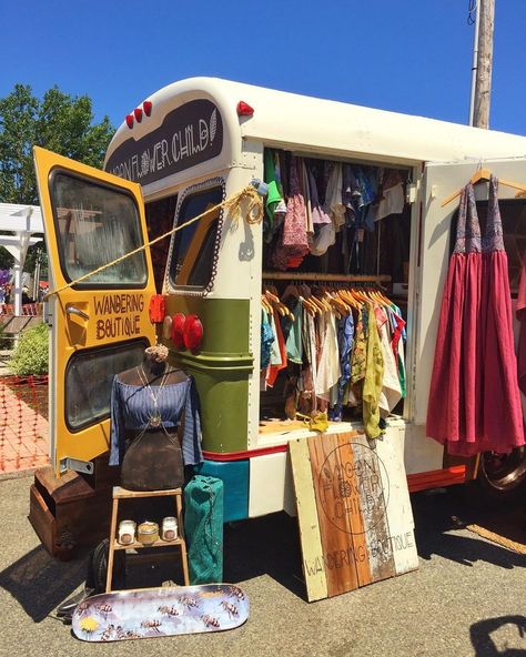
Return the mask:
<path id="1" fill-rule="evenodd" d="M 486 160 L 478 165 L 503 181 L 526 188 L 526 158 Z M 441 314 L 442 295 L 449 263 L 452 221 L 459 198 L 443 206 L 444 201 L 463 188 L 477 163 L 429 163 L 426 165 L 423 188 L 423 223 L 421 226 L 419 266 L 417 273 L 418 313 L 416 320 L 416 354 L 413 376 L 412 420 L 425 424 L 435 342 Z M 475 185 L 479 215 L 484 216 L 488 185 Z M 512 292 L 516 290 L 519 259 L 526 250 L 526 198 L 516 199 L 517 189 L 499 184 L 498 200 L 503 218 L 504 240 L 509 262 Z"/>

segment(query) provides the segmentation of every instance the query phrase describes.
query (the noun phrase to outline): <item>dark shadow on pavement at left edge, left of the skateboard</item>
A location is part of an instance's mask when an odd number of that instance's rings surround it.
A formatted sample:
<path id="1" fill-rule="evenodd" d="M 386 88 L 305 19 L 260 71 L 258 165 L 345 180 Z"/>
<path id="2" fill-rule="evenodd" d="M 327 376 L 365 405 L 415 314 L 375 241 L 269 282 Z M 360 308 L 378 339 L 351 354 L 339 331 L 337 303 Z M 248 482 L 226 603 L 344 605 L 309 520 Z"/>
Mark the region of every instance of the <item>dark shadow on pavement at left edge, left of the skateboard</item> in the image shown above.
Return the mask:
<path id="1" fill-rule="evenodd" d="M 0 586 L 36 623 L 51 614 L 84 579 L 85 558 L 58 562 L 41 545 L 0 573 Z"/>

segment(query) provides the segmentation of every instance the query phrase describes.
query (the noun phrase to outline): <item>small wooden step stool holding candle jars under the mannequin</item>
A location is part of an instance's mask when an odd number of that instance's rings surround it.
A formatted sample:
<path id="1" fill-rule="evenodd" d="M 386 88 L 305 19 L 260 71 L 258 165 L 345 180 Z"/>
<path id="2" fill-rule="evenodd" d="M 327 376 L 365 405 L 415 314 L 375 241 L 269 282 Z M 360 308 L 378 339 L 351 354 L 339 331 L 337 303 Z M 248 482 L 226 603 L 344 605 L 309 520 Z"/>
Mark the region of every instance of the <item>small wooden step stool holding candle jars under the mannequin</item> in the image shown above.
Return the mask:
<path id="1" fill-rule="evenodd" d="M 179 546 L 181 548 L 181 563 L 183 567 L 183 577 L 185 586 L 190 585 L 189 578 L 189 566 L 186 558 L 186 542 L 184 540 L 183 529 L 183 505 L 181 496 L 183 492 L 181 488 L 171 488 L 169 491 L 127 491 L 121 486 L 113 486 L 113 507 L 111 514 L 111 528 L 110 528 L 110 552 L 108 554 L 108 575 L 105 580 L 105 592 L 111 590 L 111 580 L 113 577 L 113 555 L 115 549 L 143 549 L 144 547 L 173 547 Z M 173 496 L 175 498 L 175 512 L 178 518 L 178 538 L 174 540 L 155 540 L 151 545 L 142 545 L 135 540 L 128 545 L 121 545 L 117 539 L 117 520 L 119 517 L 119 502 L 121 499 L 136 499 L 139 497 L 166 497 Z M 159 527 L 161 534 L 161 526 Z"/>

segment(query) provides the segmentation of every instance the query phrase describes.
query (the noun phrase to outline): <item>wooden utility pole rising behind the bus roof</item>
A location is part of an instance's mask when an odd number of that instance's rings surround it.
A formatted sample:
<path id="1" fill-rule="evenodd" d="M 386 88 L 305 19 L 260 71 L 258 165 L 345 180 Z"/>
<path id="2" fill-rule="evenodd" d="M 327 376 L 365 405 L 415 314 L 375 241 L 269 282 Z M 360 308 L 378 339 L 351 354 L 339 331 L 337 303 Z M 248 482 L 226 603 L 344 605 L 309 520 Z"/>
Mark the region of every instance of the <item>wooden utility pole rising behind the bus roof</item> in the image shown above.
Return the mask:
<path id="1" fill-rule="evenodd" d="M 477 0 L 469 125 L 489 127 L 495 0 Z"/>

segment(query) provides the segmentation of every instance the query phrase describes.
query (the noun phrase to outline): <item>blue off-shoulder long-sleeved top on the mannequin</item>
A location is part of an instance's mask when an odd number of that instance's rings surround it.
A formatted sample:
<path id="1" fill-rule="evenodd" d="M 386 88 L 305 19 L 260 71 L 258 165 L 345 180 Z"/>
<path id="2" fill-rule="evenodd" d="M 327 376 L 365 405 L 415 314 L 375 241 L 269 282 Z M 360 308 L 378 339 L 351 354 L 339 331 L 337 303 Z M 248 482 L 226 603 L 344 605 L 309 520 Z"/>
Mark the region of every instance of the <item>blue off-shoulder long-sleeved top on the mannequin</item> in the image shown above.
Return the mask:
<path id="1" fill-rule="evenodd" d="M 181 451 L 184 465 L 198 465 L 203 461 L 201 451 L 201 418 L 195 382 L 186 381 L 163 386 L 152 386 L 156 400 L 155 411 L 169 431 L 183 423 Z M 148 386 L 130 385 L 113 377 L 111 388 L 111 447 L 110 465 L 120 465 L 125 452 L 125 429 L 149 428 L 152 414 L 152 396 Z M 160 429 L 162 431 L 162 428 Z"/>

